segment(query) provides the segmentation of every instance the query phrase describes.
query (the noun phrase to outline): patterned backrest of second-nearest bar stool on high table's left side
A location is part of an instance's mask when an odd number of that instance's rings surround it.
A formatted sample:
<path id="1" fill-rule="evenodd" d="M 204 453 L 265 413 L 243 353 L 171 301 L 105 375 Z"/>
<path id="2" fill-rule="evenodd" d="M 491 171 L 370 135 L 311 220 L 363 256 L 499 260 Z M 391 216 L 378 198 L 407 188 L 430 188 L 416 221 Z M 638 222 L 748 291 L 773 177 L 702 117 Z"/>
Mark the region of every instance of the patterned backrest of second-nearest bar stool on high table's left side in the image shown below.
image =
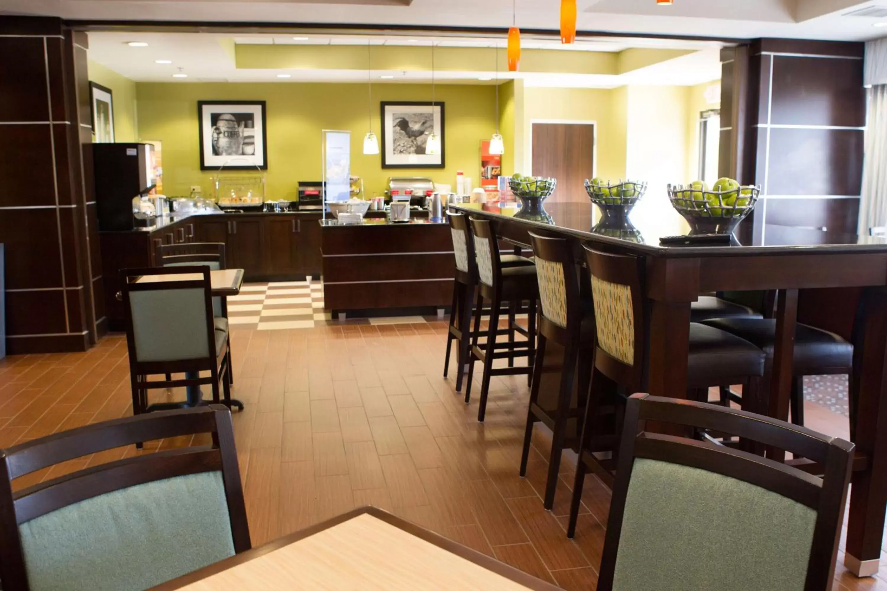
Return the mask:
<path id="1" fill-rule="evenodd" d="M 562 329 L 578 330 L 579 285 L 573 249 L 564 238 L 547 238 L 530 232 L 542 315 Z M 550 338 L 550 337 L 549 337 Z"/>

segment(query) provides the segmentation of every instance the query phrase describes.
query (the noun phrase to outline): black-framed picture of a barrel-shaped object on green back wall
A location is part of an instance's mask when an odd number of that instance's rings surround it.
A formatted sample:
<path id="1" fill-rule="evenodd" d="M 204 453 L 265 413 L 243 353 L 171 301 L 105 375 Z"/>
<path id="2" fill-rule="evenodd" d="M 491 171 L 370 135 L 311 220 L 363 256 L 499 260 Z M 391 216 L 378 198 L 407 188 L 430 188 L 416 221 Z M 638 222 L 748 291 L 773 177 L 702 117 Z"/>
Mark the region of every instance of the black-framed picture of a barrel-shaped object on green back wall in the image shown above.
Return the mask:
<path id="1" fill-rule="evenodd" d="M 200 169 L 268 168 L 265 101 L 197 103 L 200 121 Z"/>

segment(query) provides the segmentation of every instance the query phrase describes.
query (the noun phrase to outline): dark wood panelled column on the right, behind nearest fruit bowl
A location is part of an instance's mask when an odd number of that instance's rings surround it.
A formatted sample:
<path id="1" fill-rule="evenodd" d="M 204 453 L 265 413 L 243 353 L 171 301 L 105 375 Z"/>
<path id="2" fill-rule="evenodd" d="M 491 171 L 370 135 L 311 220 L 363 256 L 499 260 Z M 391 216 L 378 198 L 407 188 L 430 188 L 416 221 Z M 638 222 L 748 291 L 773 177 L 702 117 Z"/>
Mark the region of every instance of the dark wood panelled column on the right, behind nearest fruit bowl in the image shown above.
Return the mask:
<path id="1" fill-rule="evenodd" d="M 744 243 L 760 244 L 786 226 L 856 233 L 863 54 L 863 43 L 795 39 L 722 52 L 720 173 L 762 187 L 742 222 Z"/>

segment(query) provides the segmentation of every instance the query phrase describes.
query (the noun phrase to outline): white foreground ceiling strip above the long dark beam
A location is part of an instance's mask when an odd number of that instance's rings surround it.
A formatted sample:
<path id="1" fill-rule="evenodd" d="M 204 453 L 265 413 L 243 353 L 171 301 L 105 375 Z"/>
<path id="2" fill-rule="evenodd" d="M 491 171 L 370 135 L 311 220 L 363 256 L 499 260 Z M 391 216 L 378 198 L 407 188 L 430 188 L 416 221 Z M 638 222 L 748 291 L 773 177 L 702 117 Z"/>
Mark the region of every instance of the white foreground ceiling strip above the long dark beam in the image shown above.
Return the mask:
<path id="1" fill-rule="evenodd" d="M 409 5 L 406 5 L 409 4 Z M 516 0 L 520 27 L 559 27 L 558 0 Z M 580 30 L 736 38 L 868 40 L 878 19 L 846 12 L 887 0 L 578 0 Z M 0 12 L 67 19 L 506 27 L 512 0 L 0 0 Z"/>

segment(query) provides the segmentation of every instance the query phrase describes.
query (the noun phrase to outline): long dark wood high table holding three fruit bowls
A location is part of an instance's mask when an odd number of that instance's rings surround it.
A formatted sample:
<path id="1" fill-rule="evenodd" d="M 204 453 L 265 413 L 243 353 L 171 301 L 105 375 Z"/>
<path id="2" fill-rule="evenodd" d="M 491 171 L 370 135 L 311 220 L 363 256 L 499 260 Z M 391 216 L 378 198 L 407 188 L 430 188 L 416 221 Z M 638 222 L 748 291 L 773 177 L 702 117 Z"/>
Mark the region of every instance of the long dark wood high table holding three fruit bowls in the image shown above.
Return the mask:
<path id="1" fill-rule="evenodd" d="M 732 245 L 661 245 L 660 238 L 676 234 L 683 223 L 671 210 L 641 216 L 646 221 L 637 226 L 631 222 L 603 226 L 590 202 L 547 206 L 548 219 L 522 218 L 517 209 L 498 205 L 451 207 L 491 220 L 498 237 L 524 248 L 529 248 L 530 231 L 569 238 L 577 264 L 584 260 L 582 244 L 642 257 L 650 310 L 648 389 L 658 396 L 687 395 L 690 307 L 700 294 L 778 290 L 773 372 L 768 387 L 762 388 L 769 393 L 755 410 L 787 420 L 799 292 L 828 289 L 861 294 L 845 300 L 855 307 L 850 432 L 856 455 L 844 563 L 860 576 L 877 572 L 887 508 L 887 241 L 883 237 L 768 226 L 763 244 L 741 245 L 734 238 Z M 820 312 L 828 317 L 838 310 Z M 552 355 L 558 354 L 557 347 L 548 348 Z M 556 392 L 560 366 L 557 360 L 549 362 L 548 355 L 540 389 Z M 784 459 L 780 450 L 771 455 Z"/>

